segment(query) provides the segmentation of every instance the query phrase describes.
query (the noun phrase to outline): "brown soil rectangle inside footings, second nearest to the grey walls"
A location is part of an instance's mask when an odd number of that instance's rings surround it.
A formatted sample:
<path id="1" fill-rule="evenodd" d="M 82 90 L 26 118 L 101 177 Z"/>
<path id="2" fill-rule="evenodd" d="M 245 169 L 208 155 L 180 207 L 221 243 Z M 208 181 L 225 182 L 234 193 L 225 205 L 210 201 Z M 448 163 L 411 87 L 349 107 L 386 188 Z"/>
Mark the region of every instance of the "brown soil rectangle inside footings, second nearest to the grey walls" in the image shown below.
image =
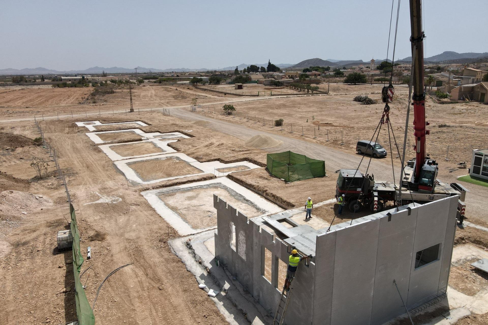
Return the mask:
<path id="1" fill-rule="evenodd" d="M 128 166 L 132 168 L 144 182 L 202 172 L 178 157 L 140 160 L 128 163 Z"/>

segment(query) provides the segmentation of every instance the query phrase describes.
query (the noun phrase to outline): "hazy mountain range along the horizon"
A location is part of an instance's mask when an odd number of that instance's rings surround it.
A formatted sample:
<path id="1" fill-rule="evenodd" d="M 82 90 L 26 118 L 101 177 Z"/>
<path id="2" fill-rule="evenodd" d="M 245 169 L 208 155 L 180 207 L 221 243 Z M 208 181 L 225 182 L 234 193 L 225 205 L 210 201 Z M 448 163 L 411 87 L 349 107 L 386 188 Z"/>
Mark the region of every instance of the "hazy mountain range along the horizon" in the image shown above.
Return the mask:
<path id="1" fill-rule="evenodd" d="M 488 52 L 485 53 L 457 53 L 457 52 L 452 52 L 452 51 L 446 51 L 441 54 L 432 56 L 432 57 L 426 57 L 424 60 L 426 63 L 469 63 L 476 61 L 475 59 L 481 59 L 481 58 L 487 58 L 488 57 Z M 409 62 L 412 60 L 412 57 L 405 57 L 399 61 L 406 61 Z M 382 61 L 386 61 L 386 59 L 380 60 L 376 59 L 375 63 L 379 63 Z M 390 59 L 388 59 L 389 62 L 391 62 Z M 363 61 L 363 60 L 337 60 L 337 59 L 327 59 L 323 60 L 321 58 L 310 58 L 303 60 L 297 64 L 289 64 L 289 63 L 280 63 L 276 64 L 276 66 L 280 68 L 307 68 L 310 66 L 329 66 L 329 67 L 350 67 L 352 65 L 359 65 L 359 64 L 364 64 L 368 65 L 369 60 Z M 250 66 L 251 64 L 247 63 L 242 63 L 237 65 L 239 70 L 243 70 L 247 66 Z M 264 64 L 255 64 L 258 67 L 266 67 L 267 63 Z M 207 69 L 207 68 L 199 68 L 199 69 L 189 69 L 189 68 L 170 68 L 170 69 L 156 69 L 156 68 L 144 68 L 144 67 L 137 67 L 137 72 L 138 73 L 148 73 L 149 71 L 151 72 L 194 72 L 194 71 L 228 71 L 228 70 L 234 70 L 235 66 L 229 66 L 229 67 L 224 67 L 224 68 L 213 68 L 213 69 Z M 0 75 L 48 75 L 48 74 L 101 74 L 103 71 L 105 71 L 107 74 L 115 74 L 115 73 L 128 73 L 132 74 L 135 73 L 135 68 L 130 69 L 130 68 L 121 68 L 121 67 L 111 67 L 111 68 L 103 68 L 103 67 L 92 67 L 88 68 L 85 70 L 70 70 L 70 71 L 58 71 L 58 70 L 51 70 L 51 69 L 46 69 L 42 67 L 38 68 L 25 68 L 25 69 L 12 69 L 12 68 L 7 68 L 7 69 L 0 69 Z"/>

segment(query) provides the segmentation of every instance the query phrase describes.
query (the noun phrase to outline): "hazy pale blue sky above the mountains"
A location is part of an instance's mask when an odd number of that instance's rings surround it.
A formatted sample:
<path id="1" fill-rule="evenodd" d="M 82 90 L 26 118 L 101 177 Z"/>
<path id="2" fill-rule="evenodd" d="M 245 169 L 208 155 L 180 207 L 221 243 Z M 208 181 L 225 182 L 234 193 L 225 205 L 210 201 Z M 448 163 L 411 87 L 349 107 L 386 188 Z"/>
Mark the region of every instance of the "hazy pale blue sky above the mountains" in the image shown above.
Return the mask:
<path id="1" fill-rule="evenodd" d="M 427 57 L 488 52 L 487 0 L 423 5 Z M 212 69 L 268 59 L 384 59 L 391 1 L 0 0 L 0 8 L 0 69 Z M 402 0 L 396 58 L 411 55 L 409 37 Z"/>

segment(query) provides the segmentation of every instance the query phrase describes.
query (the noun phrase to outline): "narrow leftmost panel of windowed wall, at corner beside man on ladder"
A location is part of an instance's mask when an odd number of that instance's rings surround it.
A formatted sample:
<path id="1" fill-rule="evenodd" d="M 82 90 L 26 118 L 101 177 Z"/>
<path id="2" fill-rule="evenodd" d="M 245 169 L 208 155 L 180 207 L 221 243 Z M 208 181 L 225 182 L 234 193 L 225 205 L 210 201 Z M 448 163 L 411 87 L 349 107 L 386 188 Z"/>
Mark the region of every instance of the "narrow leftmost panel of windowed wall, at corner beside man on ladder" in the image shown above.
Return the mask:
<path id="1" fill-rule="evenodd" d="M 317 236 L 313 324 L 331 324 L 336 237 L 336 231 Z"/>

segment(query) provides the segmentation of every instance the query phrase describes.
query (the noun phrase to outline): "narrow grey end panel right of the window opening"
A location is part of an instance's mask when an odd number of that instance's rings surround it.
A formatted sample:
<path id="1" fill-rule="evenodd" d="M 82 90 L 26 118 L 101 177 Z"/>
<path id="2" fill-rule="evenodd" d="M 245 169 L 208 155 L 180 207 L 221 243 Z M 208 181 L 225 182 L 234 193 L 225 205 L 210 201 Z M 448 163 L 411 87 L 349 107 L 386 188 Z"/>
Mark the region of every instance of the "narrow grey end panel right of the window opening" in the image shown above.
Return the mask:
<path id="1" fill-rule="evenodd" d="M 449 217 L 447 219 L 446 237 L 444 238 L 444 247 L 446 249 L 443 249 L 442 251 L 442 265 L 441 274 L 439 277 L 438 294 L 442 294 L 442 290 L 447 290 L 447 280 L 449 279 L 449 269 L 452 258 L 452 247 L 454 246 L 454 236 L 456 234 L 456 214 L 458 197 L 450 197 L 449 201 Z"/>

